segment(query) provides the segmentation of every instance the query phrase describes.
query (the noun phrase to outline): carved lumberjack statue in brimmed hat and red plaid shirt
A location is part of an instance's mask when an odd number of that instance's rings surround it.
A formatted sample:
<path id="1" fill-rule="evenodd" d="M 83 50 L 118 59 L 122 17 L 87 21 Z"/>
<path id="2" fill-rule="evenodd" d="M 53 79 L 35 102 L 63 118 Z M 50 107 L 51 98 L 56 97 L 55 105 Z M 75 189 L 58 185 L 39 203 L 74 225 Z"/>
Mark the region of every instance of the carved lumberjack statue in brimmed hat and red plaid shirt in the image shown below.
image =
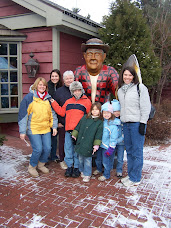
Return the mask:
<path id="1" fill-rule="evenodd" d="M 86 95 L 94 103 L 105 103 L 110 93 L 115 94 L 118 73 L 110 66 L 103 65 L 109 46 L 100 39 L 89 39 L 81 45 L 86 65 L 75 70 L 75 80 L 83 85 Z"/>

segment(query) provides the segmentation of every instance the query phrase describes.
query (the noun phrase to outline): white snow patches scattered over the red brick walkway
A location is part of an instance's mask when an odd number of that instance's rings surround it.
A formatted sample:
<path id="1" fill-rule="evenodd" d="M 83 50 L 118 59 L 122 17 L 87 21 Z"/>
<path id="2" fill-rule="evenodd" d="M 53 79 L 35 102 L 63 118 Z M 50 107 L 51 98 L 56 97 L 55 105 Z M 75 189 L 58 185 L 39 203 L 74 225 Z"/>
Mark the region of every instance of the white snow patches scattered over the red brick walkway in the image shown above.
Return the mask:
<path id="1" fill-rule="evenodd" d="M 143 228 L 156 228 L 157 221 L 154 220 L 156 216 L 155 210 L 158 210 L 158 218 L 160 219 L 163 226 L 160 227 L 171 227 L 171 221 L 165 219 L 162 215 L 164 213 L 170 215 L 169 208 L 171 207 L 170 201 L 168 201 L 168 205 L 164 200 L 170 199 L 171 194 L 171 146 L 167 148 L 160 149 L 159 146 L 155 147 L 144 147 L 144 167 L 143 167 L 143 178 L 141 181 L 141 185 L 138 187 L 130 187 L 127 189 L 128 195 L 125 195 L 125 199 L 127 203 L 130 203 L 132 206 L 136 205 L 136 209 L 133 207 L 126 208 L 130 214 L 137 216 L 137 218 L 142 218 L 145 222 L 138 220 L 138 219 L 130 219 L 129 217 L 123 216 L 120 212 L 118 214 L 112 214 L 110 211 L 115 209 L 118 201 L 111 200 L 110 196 L 108 198 L 103 198 L 100 196 L 98 198 L 98 204 L 94 206 L 93 210 L 101 212 L 101 213 L 108 213 L 108 217 L 105 220 L 106 225 L 115 227 L 116 223 L 120 224 L 124 227 L 127 224 L 127 227 L 143 227 Z M 0 183 L 10 182 L 13 184 L 18 183 L 18 176 L 24 175 L 24 170 L 21 171 L 19 167 L 26 163 L 28 165 L 28 159 L 30 156 L 23 155 L 22 150 L 17 150 L 15 148 L 11 148 L 8 146 L 1 146 L 0 147 Z M 124 160 L 126 161 L 126 155 L 124 156 Z M 149 170 L 153 170 L 152 173 L 149 173 Z M 151 172 L 151 171 L 150 171 Z M 31 178 L 25 178 L 25 182 L 32 182 Z M 93 181 L 93 180 L 92 180 Z M 35 191 L 39 191 L 35 182 L 33 183 L 33 188 Z M 61 184 L 65 184 L 65 182 L 61 181 Z M 78 184 L 78 183 L 77 183 Z M 101 183 L 99 183 L 100 185 Z M 121 183 L 117 181 L 115 183 L 116 188 L 121 188 Z M 87 188 L 86 185 L 81 184 L 82 188 Z M 123 186 L 122 186 L 123 187 Z M 156 197 L 156 205 L 153 206 L 152 210 L 149 210 L 146 204 L 137 205 L 140 197 L 140 191 L 138 189 L 145 188 L 152 190 L 153 194 Z M 20 198 L 22 198 L 22 194 Z M 81 205 L 85 200 L 92 200 L 94 196 L 91 194 L 87 195 L 86 198 L 80 200 L 78 205 Z M 105 199 L 105 201 L 104 201 Z M 106 202 L 107 200 L 107 202 Z M 158 204 L 161 201 L 161 206 Z M 105 202 L 105 203 L 104 203 Z M 32 228 L 32 227 L 44 227 L 46 224 L 41 223 L 43 218 L 39 215 L 33 214 L 30 223 L 22 224 L 25 227 Z"/>

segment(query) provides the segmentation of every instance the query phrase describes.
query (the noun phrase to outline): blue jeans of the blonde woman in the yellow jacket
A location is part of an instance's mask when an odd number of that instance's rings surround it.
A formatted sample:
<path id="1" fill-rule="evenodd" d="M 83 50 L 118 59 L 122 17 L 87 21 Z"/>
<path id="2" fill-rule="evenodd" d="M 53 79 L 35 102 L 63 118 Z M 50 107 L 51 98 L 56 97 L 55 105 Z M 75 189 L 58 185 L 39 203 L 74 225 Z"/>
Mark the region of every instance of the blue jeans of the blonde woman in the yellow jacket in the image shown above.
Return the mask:
<path id="1" fill-rule="evenodd" d="M 38 162 L 46 163 L 51 151 L 51 132 L 42 135 L 28 135 L 33 152 L 30 165 L 35 167 Z"/>

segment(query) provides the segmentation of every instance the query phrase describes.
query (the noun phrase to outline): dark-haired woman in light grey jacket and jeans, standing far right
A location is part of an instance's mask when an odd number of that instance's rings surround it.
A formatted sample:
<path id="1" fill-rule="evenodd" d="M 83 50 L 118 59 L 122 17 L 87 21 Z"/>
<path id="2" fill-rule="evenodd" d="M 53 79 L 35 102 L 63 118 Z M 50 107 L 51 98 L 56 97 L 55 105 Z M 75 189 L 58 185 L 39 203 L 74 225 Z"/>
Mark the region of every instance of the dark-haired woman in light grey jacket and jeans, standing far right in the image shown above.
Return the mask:
<path id="1" fill-rule="evenodd" d="M 126 187 L 140 184 L 146 125 L 151 110 L 148 89 L 144 84 L 139 84 L 139 94 L 138 84 L 134 68 L 124 67 L 119 77 L 118 98 L 128 166 L 128 176 L 122 178 L 121 182 Z"/>

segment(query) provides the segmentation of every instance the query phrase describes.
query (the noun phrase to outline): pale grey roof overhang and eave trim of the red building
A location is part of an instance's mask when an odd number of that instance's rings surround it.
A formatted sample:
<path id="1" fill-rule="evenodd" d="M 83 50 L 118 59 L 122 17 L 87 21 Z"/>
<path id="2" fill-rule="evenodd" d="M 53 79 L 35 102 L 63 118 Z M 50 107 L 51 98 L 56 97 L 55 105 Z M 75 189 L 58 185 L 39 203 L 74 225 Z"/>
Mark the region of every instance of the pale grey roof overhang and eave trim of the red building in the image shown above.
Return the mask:
<path id="1" fill-rule="evenodd" d="M 32 13 L 0 18 L 0 23 L 10 29 L 51 26 L 60 30 L 72 30 L 82 34 L 98 36 L 100 24 L 65 9 L 49 0 L 12 0 Z"/>

